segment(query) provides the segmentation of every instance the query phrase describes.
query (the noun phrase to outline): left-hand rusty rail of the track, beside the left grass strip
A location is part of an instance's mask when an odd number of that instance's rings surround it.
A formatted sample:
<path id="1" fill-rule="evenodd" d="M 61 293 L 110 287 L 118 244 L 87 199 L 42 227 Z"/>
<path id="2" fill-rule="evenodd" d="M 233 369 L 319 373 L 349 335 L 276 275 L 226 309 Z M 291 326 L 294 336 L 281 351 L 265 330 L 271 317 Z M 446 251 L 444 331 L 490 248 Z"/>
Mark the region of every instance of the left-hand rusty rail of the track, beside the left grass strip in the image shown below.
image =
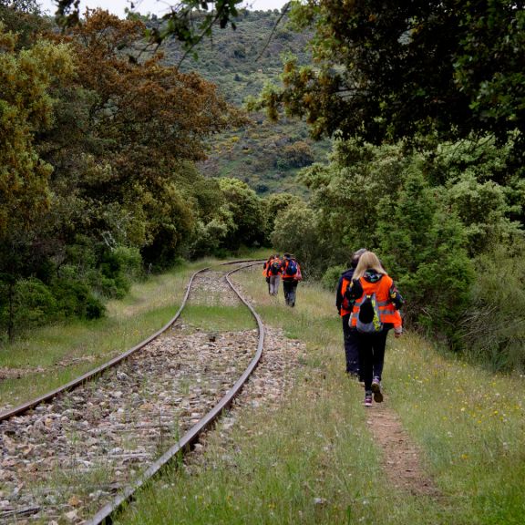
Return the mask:
<path id="1" fill-rule="evenodd" d="M 242 262 L 252 262 L 252 264 L 255 265 L 256 263 L 259 263 L 261 261 L 262 260 L 257 260 L 256 262 L 254 260 L 251 260 L 251 261 L 246 261 L 246 260 L 229 261 L 229 262 L 221 262 L 221 264 L 218 264 L 218 266 L 224 266 L 224 265 L 228 265 L 228 264 L 241 264 Z M 250 264 L 250 266 L 252 264 Z M 84 385 L 89 380 L 94 379 L 96 376 L 99 376 L 100 374 L 102 374 L 108 368 L 111 368 L 112 366 L 117 365 L 118 363 L 120 363 L 124 359 L 128 358 L 129 355 L 135 354 L 135 352 L 137 352 L 138 350 L 140 350 L 144 346 L 148 345 L 151 341 L 153 341 L 154 339 L 159 337 L 159 335 L 161 335 L 164 332 L 166 332 L 170 328 L 170 326 L 172 324 L 174 324 L 175 321 L 177 321 L 177 319 L 179 319 L 180 314 L 182 313 L 182 310 L 186 306 L 186 302 L 188 301 L 188 297 L 190 296 L 190 288 L 191 288 L 191 284 L 193 283 L 193 279 L 199 273 L 207 272 L 208 270 L 210 270 L 210 267 L 202 268 L 201 270 L 198 270 L 197 272 L 195 272 L 195 273 L 193 273 L 191 275 L 190 282 L 186 286 L 186 293 L 184 294 L 184 298 L 182 299 L 182 303 L 180 304 L 180 308 L 179 308 L 177 314 L 175 314 L 170 319 L 170 321 L 167 324 L 162 326 L 162 328 L 160 328 L 160 330 L 155 332 L 155 334 L 149 335 L 149 337 L 147 339 L 145 339 L 144 341 L 140 342 L 139 345 L 133 346 L 132 348 L 130 348 L 129 350 L 127 350 L 123 354 L 117 355 L 116 357 L 114 357 L 113 359 L 108 361 L 107 363 L 104 363 L 103 365 L 100 365 L 97 368 L 94 368 L 93 370 L 90 370 L 89 372 L 87 372 L 83 376 L 78 376 L 76 379 L 73 379 L 72 381 L 70 381 L 66 385 L 59 386 L 55 390 L 47 392 L 46 394 L 44 394 L 42 396 L 38 396 L 35 399 L 32 399 L 31 401 L 27 401 L 26 403 L 24 403 L 22 405 L 19 405 L 18 407 L 10 408 L 8 410 L 5 410 L 4 412 L 0 412 L 0 422 L 4 421 L 5 419 L 9 419 L 10 417 L 14 417 L 14 416 L 17 416 L 19 414 L 23 414 L 23 413 L 27 412 L 28 410 L 30 410 L 31 408 L 34 408 L 34 407 L 36 407 L 36 406 L 38 406 L 38 405 L 40 405 L 42 403 L 45 403 L 46 401 L 49 401 L 49 400 L 53 399 L 54 397 L 58 396 L 59 394 L 62 394 L 63 392 L 67 392 L 69 390 L 74 390 L 75 388 L 77 388 L 77 386 Z"/>

